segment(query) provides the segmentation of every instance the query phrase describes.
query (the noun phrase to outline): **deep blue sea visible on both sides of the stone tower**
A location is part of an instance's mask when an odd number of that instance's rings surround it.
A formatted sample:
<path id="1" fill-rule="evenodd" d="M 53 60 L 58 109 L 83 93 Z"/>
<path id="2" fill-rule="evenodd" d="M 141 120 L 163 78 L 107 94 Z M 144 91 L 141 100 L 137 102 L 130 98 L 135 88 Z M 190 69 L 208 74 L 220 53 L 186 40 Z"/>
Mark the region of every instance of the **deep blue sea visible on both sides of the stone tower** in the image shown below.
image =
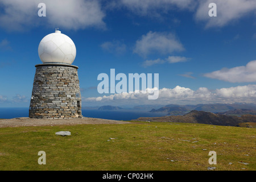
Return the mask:
<path id="1" fill-rule="evenodd" d="M 120 109 L 120 110 L 97 110 L 97 109 L 82 109 L 82 115 L 89 118 L 101 118 L 101 119 L 114 119 L 129 121 L 131 119 L 137 119 L 139 117 L 161 117 L 167 115 L 167 113 L 150 113 L 150 110 L 132 110 L 132 109 Z M 27 107 L 4 107 L 0 108 L 1 119 L 11 119 L 28 117 Z"/>

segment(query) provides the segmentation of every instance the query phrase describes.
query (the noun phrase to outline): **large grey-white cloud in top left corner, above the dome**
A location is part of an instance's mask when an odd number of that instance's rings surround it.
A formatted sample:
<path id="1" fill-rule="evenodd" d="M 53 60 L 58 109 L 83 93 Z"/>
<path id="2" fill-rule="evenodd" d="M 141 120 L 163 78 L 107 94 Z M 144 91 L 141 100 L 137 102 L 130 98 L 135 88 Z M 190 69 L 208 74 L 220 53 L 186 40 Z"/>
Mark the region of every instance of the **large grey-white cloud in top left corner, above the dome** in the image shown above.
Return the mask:
<path id="1" fill-rule="evenodd" d="M 38 16 L 38 4 L 46 4 L 46 17 Z M 24 31 L 31 27 L 54 26 L 78 30 L 87 27 L 105 28 L 105 14 L 97 0 L 9 0 L 0 1 L 0 26 L 9 31 Z M 10 23 L 11 22 L 11 23 Z"/>

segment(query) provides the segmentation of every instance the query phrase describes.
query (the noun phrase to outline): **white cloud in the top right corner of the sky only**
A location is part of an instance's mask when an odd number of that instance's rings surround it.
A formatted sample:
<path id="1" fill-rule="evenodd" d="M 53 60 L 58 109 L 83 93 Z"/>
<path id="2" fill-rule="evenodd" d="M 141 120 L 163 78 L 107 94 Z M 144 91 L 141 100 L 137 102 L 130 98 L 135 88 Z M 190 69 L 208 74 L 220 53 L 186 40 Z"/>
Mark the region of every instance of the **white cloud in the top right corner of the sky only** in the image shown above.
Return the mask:
<path id="1" fill-rule="evenodd" d="M 208 7 L 210 3 L 217 5 L 217 17 L 210 17 Z M 199 1 L 195 18 L 198 21 L 206 22 L 205 27 L 223 27 L 238 20 L 249 13 L 254 13 L 256 10 L 255 0 L 207 0 Z"/>

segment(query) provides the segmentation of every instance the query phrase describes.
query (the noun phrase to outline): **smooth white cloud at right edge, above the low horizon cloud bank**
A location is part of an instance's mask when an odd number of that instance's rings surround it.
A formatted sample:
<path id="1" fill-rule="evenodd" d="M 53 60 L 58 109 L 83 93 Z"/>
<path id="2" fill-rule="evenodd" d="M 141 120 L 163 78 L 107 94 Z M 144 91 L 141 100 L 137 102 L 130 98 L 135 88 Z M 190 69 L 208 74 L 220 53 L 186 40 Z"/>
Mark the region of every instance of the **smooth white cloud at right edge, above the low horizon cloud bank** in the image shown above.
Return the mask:
<path id="1" fill-rule="evenodd" d="M 256 60 L 250 61 L 246 66 L 222 68 L 204 76 L 228 82 L 256 82 Z"/>

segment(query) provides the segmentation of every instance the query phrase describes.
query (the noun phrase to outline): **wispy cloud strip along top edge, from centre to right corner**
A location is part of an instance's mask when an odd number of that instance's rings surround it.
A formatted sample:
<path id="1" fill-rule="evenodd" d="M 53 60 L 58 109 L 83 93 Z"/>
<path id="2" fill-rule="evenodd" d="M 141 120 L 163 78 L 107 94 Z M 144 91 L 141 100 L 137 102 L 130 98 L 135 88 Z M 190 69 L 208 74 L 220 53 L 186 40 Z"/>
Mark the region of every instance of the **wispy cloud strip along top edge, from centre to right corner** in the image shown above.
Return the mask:
<path id="1" fill-rule="evenodd" d="M 217 17 L 209 17 L 210 3 L 217 5 Z M 125 7 L 142 16 L 159 17 L 169 11 L 190 11 L 196 21 L 205 22 L 205 27 L 224 27 L 256 10 L 255 0 L 118 0 L 113 7 Z"/>

